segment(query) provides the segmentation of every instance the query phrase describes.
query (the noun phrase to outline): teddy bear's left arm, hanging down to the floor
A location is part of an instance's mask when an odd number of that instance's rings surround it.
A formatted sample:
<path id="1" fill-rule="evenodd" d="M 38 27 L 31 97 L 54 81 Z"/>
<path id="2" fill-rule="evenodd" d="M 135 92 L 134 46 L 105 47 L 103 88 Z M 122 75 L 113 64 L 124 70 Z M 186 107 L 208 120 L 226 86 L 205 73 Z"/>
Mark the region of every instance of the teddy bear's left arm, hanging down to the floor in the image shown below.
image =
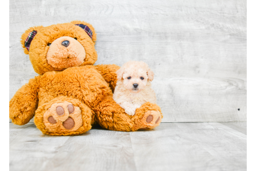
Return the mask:
<path id="1" fill-rule="evenodd" d="M 36 79 L 30 79 L 9 102 L 9 118 L 14 124 L 24 125 L 35 115 L 38 106 L 39 86 Z"/>

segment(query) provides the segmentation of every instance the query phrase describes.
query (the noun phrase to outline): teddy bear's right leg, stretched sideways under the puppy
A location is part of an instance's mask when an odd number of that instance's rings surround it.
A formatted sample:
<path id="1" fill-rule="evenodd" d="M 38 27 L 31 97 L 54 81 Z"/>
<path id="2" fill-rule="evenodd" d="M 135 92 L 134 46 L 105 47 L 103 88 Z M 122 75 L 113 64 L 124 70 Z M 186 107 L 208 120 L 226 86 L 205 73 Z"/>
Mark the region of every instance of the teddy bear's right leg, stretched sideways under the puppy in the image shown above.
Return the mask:
<path id="1" fill-rule="evenodd" d="M 151 130 L 162 121 L 161 109 L 156 104 L 145 103 L 136 109 L 134 116 L 129 116 L 112 96 L 98 105 L 95 114 L 101 127 L 114 131 Z"/>

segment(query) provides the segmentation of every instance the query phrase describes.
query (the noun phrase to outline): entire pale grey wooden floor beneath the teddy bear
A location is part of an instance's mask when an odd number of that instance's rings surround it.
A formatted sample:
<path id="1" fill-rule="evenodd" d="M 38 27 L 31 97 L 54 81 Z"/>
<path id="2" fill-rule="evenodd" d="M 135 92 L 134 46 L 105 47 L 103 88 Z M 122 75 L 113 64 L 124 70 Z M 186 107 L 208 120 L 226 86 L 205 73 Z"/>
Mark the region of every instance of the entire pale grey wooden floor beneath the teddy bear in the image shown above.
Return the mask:
<path id="1" fill-rule="evenodd" d="M 94 128 L 43 135 L 9 123 L 9 170 L 246 170 L 246 122 L 161 123 L 151 131 Z"/>

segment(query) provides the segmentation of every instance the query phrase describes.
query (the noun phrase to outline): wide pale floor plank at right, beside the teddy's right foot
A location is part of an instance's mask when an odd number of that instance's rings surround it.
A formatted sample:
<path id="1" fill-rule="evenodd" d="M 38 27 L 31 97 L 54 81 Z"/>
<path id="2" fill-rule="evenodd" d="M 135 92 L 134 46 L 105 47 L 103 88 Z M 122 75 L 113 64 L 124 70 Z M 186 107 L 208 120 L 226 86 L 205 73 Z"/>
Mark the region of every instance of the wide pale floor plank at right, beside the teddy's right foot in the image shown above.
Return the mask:
<path id="1" fill-rule="evenodd" d="M 246 170 L 246 137 L 220 123 L 161 123 L 130 136 L 137 170 Z"/>

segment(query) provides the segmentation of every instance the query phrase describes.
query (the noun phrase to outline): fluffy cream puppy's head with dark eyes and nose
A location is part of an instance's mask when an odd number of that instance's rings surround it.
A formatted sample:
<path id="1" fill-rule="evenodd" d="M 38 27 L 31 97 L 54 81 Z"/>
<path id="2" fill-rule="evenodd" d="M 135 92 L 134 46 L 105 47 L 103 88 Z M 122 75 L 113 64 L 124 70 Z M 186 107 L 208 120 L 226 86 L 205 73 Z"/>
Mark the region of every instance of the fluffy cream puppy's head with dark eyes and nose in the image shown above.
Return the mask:
<path id="1" fill-rule="evenodd" d="M 139 93 L 148 81 L 154 79 L 154 73 L 148 64 L 140 61 L 129 61 L 116 72 L 118 81 L 131 93 Z"/>

